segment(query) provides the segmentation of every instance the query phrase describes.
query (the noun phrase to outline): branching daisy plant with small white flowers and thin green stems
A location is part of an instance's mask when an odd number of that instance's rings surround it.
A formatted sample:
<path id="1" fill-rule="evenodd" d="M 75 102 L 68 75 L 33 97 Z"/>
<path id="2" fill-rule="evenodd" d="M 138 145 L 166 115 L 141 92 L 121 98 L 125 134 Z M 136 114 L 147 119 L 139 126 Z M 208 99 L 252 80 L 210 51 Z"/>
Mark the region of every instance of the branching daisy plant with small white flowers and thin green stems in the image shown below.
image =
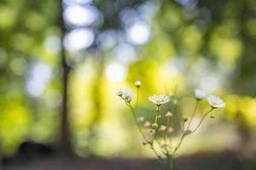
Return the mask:
<path id="1" fill-rule="evenodd" d="M 166 113 L 166 116 L 164 116 L 164 118 L 166 118 L 166 121 L 164 121 L 165 122 L 164 124 L 160 124 L 160 121 L 159 121 L 162 118 L 160 113 L 160 108 L 166 103 L 168 103 L 171 100 L 171 98 L 164 94 L 152 95 L 148 98 L 149 101 L 151 101 L 156 106 L 154 122 L 151 124 L 150 122 L 145 120 L 144 117 L 141 117 L 141 116 L 137 117 L 136 111 L 138 106 L 138 99 L 139 99 L 138 96 L 139 96 L 139 88 L 141 87 L 141 82 L 137 81 L 135 85 L 137 87 L 137 99 L 136 99 L 135 109 L 131 105 L 131 101 L 132 99 L 134 99 L 134 94 L 131 90 L 120 89 L 118 92 L 118 96 L 121 99 L 123 99 L 125 101 L 125 105 L 127 105 L 130 108 L 131 114 L 135 122 L 137 123 L 139 132 L 143 137 L 143 140 L 144 140 L 143 144 L 149 145 L 150 149 L 153 150 L 155 156 L 157 156 L 159 160 L 163 160 L 164 158 L 166 159 L 168 170 L 174 170 L 174 158 L 175 156 L 177 156 L 177 152 L 182 146 L 185 137 L 191 133 L 195 133 L 199 129 L 199 127 L 201 127 L 201 124 L 202 122 L 204 122 L 206 117 L 209 114 L 212 114 L 212 110 L 224 107 L 225 106 L 224 101 L 216 96 L 209 96 L 207 98 L 207 101 L 211 106 L 211 109 L 201 117 L 200 122 L 195 126 L 194 130 L 190 130 L 190 127 L 193 124 L 192 122 L 196 115 L 199 103 L 202 99 L 204 99 L 206 95 L 204 91 L 196 89 L 195 90 L 196 103 L 191 116 L 189 117 L 186 115 L 182 115 L 179 112 L 178 114 L 180 114 L 180 116 L 176 116 L 178 118 L 177 121 L 179 122 L 179 127 L 180 127 L 179 129 L 181 129 L 181 132 L 178 132 L 178 133 L 181 135 L 181 137 L 178 140 L 177 144 L 173 144 L 172 139 L 173 139 L 174 133 L 173 133 L 173 128 L 171 127 L 172 123 L 170 123 L 171 121 L 174 121 L 173 120 L 174 116 L 172 112 L 168 111 Z M 175 102 L 173 103 L 175 103 L 174 105 L 177 107 L 177 100 L 175 100 Z M 180 120 L 179 117 L 182 117 L 182 120 Z M 141 126 L 140 123 L 143 123 L 143 126 L 144 128 L 146 128 L 146 131 L 143 131 L 143 127 Z M 159 135 L 157 135 L 158 133 Z M 163 140 L 161 140 L 160 137 Z"/>

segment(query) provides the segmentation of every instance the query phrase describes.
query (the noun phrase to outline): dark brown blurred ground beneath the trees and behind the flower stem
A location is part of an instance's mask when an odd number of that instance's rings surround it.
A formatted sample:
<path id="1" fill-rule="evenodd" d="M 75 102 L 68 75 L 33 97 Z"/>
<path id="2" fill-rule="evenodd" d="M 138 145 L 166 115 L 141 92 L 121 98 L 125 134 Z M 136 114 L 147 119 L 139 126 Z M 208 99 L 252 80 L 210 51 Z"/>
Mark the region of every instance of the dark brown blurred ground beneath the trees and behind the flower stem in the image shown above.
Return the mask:
<path id="1" fill-rule="evenodd" d="M 199 153 L 177 157 L 178 170 L 256 170 L 254 161 L 244 161 L 235 152 Z M 154 159 L 121 159 L 49 154 L 30 159 L 6 161 L 3 170 L 166 170 L 165 163 Z"/>

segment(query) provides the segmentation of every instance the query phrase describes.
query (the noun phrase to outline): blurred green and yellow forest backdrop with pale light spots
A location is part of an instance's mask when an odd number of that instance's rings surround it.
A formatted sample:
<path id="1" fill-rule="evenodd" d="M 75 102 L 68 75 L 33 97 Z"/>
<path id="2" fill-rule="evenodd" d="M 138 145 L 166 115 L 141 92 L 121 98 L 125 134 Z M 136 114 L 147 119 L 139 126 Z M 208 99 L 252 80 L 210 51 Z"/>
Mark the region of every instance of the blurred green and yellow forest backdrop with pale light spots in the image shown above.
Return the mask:
<path id="1" fill-rule="evenodd" d="M 254 0 L 1 0 L 1 156 L 25 141 L 78 156 L 153 156 L 114 94 L 137 80 L 148 119 L 148 95 L 176 87 L 189 96 L 186 114 L 195 88 L 226 102 L 181 155 L 255 156 L 255 47 Z"/>

